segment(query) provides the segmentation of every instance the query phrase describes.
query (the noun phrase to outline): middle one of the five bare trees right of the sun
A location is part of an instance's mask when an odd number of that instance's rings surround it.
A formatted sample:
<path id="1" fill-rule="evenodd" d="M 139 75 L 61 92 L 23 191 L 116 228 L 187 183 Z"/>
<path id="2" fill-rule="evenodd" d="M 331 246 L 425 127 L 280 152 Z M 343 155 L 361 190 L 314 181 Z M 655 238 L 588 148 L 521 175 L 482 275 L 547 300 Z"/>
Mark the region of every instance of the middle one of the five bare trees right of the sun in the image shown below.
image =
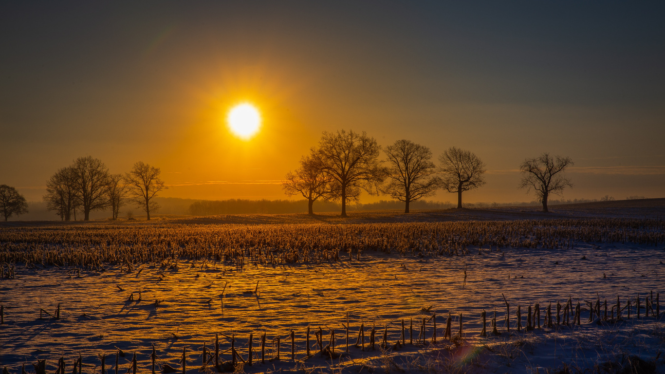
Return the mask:
<path id="1" fill-rule="evenodd" d="M 432 151 L 426 146 L 410 140 L 397 140 L 385 149 L 388 162 L 389 182 L 382 189 L 384 194 L 403 201 L 404 213 L 409 212 L 409 204 L 436 193 L 440 184 L 434 176 L 436 167 L 432 160 Z"/>

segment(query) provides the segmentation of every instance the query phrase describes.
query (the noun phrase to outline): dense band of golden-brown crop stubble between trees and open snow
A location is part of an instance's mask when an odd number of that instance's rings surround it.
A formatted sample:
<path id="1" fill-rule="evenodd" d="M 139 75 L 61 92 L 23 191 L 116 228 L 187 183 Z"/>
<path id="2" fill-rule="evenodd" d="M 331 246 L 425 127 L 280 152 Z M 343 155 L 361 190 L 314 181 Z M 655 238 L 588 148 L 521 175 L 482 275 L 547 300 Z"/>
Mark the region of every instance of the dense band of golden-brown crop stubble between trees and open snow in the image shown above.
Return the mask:
<path id="1" fill-rule="evenodd" d="M 322 262 L 367 251 L 464 256 L 475 248 L 572 248 L 576 242 L 657 246 L 665 221 L 594 218 L 349 225 L 48 226 L 0 230 L 0 263 L 83 266 L 195 259 L 275 264 Z"/>

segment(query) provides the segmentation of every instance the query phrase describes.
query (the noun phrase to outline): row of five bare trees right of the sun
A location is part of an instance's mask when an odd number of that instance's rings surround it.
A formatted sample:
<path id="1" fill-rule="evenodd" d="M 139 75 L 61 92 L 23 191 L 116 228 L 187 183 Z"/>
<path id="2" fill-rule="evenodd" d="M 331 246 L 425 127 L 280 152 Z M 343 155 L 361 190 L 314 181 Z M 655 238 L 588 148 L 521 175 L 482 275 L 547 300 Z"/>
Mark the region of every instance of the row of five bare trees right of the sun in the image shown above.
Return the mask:
<path id="1" fill-rule="evenodd" d="M 382 151 L 386 160 L 379 159 Z M 301 158 L 299 168 L 287 173 L 282 187 L 288 196 L 306 198 L 309 214 L 314 214 L 317 200 L 338 200 L 341 215 L 346 216 L 346 204 L 357 202 L 362 190 L 404 202 L 404 212 L 408 213 L 412 202 L 443 189 L 456 193 L 457 207 L 462 208 L 462 193 L 485 184 L 485 163 L 473 152 L 456 146 L 445 150 L 438 160 L 437 166 L 430 148 L 410 140 L 397 140 L 382 148 L 366 132 L 323 132 L 319 145 Z M 547 152 L 527 158 L 519 166 L 519 188 L 535 192 L 543 212 L 548 212 L 549 196 L 573 186 L 563 174 L 571 165 L 571 158 Z"/>

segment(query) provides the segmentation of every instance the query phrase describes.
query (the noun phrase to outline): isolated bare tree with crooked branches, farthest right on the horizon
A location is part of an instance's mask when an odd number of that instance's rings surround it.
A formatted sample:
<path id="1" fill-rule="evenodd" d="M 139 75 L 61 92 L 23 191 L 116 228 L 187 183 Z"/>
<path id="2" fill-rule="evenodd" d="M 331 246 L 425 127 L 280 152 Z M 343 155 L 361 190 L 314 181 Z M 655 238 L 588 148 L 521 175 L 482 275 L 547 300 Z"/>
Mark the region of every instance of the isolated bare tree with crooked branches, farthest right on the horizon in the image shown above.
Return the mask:
<path id="1" fill-rule="evenodd" d="M 547 213 L 547 198 L 550 194 L 561 196 L 563 189 L 573 187 L 573 182 L 563 175 L 568 166 L 575 164 L 570 157 L 552 157 L 545 152 L 534 158 L 527 158 L 519 166 L 522 179 L 519 188 L 533 189 L 536 197 L 543 202 L 543 212 Z"/>

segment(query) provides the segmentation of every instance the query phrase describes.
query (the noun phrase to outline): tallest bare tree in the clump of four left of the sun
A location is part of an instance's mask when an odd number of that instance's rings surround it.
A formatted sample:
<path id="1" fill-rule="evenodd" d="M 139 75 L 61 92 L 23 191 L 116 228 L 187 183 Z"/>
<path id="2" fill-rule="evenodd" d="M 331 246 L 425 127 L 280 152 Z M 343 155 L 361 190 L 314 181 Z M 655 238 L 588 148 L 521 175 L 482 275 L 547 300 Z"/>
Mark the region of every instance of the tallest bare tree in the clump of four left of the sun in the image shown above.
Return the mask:
<path id="1" fill-rule="evenodd" d="M 104 162 L 92 156 L 79 157 L 70 167 L 76 183 L 76 198 L 83 209 L 83 220 L 87 221 L 90 212 L 110 205 L 106 194 L 108 169 Z"/>

